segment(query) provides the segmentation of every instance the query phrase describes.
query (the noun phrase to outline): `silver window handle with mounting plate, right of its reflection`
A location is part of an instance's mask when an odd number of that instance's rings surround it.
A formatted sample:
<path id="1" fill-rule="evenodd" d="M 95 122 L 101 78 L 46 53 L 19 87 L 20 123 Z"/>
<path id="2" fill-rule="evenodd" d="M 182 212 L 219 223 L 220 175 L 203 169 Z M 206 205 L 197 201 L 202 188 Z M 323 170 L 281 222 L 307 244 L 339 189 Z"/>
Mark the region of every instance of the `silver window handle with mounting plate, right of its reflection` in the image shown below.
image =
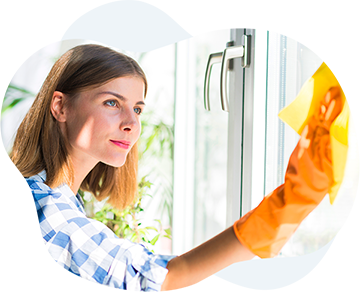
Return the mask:
<path id="1" fill-rule="evenodd" d="M 229 111 L 229 103 L 227 98 L 227 71 L 229 60 L 235 58 L 242 58 L 241 66 L 243 68 L 249 67 L 250 65 L 250 46 L 251 46 L 251 36 L 243 36 L 243 45 L 242 46 L 233 46 L 228 47 L 224 50 L 222 54 L 221 61 L 221 73 L 220 73 L 220 96 L 221 96 L 221 106 L 222 109 L 226 112 Z"/>

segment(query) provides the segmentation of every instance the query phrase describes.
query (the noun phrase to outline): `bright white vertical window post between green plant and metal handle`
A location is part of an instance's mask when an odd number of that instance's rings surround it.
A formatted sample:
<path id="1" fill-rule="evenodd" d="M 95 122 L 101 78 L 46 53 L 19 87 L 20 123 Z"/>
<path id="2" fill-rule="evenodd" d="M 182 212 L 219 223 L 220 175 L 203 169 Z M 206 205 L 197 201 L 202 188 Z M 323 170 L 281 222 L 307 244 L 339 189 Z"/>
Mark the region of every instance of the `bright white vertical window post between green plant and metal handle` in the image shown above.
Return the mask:
<path id="1" fill-rule="evenodd" d="M 177 44 L 173 253 L 193 247 L 195 155 L 195 54 L 193 40 Z"/>

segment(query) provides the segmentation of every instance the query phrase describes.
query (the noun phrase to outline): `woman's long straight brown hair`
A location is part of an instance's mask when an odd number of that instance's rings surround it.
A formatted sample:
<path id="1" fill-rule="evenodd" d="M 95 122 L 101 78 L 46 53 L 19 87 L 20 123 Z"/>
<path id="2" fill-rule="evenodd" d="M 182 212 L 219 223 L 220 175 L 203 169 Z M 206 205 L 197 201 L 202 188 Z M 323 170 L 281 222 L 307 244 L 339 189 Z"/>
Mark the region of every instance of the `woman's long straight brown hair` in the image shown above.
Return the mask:
<path id="1" fill-rule="evenodd" d="M 68 155 L 67 137 L 62 135 L 57 120 L 50 111 L 52 96 L 60 91 L 71 99 L 77 94 L 99 87 L 115 78 L 137 76 L 147 80 L 132 58 L 99 45 L 81 45 L 67 51 L 57 60 L 43 83 L 29 112 L 18 128 L 11 159 L 20 173 L 29 177 L 46 171 L 45 183 L 55 188 L 74 181 L 74 171 Z M 137 144 L 121 167 L 99 162 L 81 184 L 98 200 L 122 209 L 133 202 L 137 194 Z"/>

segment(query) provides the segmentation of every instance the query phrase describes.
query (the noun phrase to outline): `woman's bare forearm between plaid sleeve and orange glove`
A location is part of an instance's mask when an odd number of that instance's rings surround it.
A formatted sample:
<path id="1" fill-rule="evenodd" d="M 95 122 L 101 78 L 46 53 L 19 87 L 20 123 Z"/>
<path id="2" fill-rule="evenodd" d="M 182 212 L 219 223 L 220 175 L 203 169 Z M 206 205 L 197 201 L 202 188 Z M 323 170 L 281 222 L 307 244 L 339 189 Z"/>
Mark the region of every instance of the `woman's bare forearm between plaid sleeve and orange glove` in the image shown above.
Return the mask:
<path id="1" fill-rule="evenodd" d="M 191 251 L 172 259 L 162 292 L 210 292 L 212 275 L 236 262 L 255 255 L 245 248 L 230 227 Z"/>

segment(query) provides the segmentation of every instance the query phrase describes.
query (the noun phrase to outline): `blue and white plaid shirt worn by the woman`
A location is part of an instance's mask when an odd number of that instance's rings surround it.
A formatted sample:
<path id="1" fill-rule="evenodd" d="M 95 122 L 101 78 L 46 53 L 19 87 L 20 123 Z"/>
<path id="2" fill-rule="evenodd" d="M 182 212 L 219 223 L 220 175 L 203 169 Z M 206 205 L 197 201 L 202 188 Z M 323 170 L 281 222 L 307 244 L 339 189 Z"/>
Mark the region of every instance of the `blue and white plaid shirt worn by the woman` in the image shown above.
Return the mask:
<path id="1" fill-rule="evenodd" d="M 166 265 L 174 256 L 155 255 L 141 244 L 120 239 L 101 222 L 86 217 L 68 185 L 51 189 L 44 184 L 45 177 L 43 171 L 27 182 L 39 204 L 40 227 L 54 260 L 120 291 L 160 291 Z"/>

